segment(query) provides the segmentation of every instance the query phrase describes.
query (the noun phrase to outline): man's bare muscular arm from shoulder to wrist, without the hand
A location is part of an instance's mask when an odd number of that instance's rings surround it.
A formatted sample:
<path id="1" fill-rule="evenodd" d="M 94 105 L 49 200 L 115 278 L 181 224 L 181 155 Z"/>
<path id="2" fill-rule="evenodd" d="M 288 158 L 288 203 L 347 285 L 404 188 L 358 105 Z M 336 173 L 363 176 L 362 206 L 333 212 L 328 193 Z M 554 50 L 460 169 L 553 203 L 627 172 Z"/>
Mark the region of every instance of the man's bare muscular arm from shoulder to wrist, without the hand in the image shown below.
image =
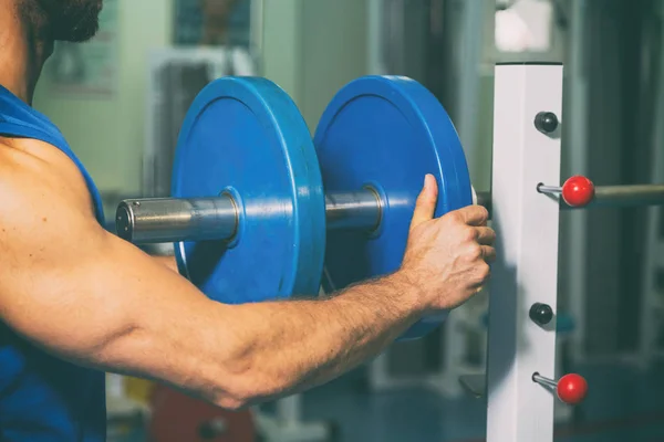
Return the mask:
<path id="1" fill-rule="evenodd" d="M 61 358 L 237 408 L 338 376 L 422 313 L 401 274 L 325 301 L 210 302 L 105 232 L 66 159 L 8 149 L 0 149 L 0 317 Z"/>

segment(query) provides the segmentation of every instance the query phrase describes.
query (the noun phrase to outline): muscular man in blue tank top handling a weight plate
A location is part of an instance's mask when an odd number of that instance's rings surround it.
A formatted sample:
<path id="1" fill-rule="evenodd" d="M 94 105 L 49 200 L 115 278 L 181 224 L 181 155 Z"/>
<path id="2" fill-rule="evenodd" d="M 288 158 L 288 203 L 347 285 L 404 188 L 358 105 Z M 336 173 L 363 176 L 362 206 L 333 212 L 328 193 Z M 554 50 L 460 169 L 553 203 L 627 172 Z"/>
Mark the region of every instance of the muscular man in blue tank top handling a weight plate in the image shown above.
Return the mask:
<path id="1" fill-rule="evenodd" d="M 101 8 L 0 0 L 0 440 L 103 441 L 103 371 L 228 409 L 303 391 L 483 287 L 495 256 L 487 212 L 434 220 L 430 176 L 401 270 L 326 299 L 214 303 L 106 232 L 92 179 L 30 107 L 53 42 L 90 39 Z"/>

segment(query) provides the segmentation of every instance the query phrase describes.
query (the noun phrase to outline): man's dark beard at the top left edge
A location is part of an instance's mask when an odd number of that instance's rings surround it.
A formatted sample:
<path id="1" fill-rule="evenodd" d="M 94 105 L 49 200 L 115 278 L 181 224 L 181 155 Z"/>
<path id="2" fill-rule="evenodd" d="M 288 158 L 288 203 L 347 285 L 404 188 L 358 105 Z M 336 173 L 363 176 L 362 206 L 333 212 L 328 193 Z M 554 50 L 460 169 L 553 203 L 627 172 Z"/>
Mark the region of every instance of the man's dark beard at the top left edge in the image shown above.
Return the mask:
<path id="1" fill-rule="evenodd" d="M 48 36 L 54 41 L 84 42 L 100 27 L 102 0 L 29 0 Z"/>

